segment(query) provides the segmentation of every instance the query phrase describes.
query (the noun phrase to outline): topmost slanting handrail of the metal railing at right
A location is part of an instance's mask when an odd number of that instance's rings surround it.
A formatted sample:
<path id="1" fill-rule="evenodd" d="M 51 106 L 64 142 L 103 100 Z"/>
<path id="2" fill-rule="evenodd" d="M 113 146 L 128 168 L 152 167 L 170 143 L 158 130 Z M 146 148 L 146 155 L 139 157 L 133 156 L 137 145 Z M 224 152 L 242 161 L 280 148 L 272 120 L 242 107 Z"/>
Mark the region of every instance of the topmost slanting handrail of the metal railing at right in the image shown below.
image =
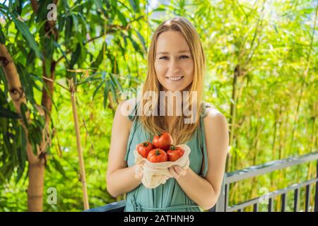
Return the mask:
<path id="1" fill-rule="evenodd" d="M 238 182 L 243 179 L 250 177 L 256 177 L 261 174 L 266 174 L 278 169 L 284 169 L 287 167 L 292 167 L 294 165 L 300 165 L 304 162 L 318 160 L 318 151 L 314 153 L 308 153 L 301 155 L 299 157 L 288 157 L 283 160 L 274 160 L 271 162 L 266 162 L 261 165 L 256 165 L 252 167 L 247 167 L 245 169 L 236 170 L 233 172 L 226 173 L 225 184 L 230 184 L 232 182 Z"/>

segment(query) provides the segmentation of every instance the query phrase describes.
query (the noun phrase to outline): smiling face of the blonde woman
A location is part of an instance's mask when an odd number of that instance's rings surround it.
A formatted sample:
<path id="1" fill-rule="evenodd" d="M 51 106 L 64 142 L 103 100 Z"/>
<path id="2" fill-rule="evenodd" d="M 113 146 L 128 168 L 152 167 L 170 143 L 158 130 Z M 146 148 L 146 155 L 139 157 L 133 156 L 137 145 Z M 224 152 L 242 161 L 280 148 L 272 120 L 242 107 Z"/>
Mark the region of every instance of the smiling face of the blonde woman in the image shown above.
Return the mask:
<path id="1" fill-rule="evenodd" d="M 189 45 L 180 32 L 159 35 L 155 56 L 155 73 L 165 91 L 182 91 L 194 79 L 194 60 Z"/>

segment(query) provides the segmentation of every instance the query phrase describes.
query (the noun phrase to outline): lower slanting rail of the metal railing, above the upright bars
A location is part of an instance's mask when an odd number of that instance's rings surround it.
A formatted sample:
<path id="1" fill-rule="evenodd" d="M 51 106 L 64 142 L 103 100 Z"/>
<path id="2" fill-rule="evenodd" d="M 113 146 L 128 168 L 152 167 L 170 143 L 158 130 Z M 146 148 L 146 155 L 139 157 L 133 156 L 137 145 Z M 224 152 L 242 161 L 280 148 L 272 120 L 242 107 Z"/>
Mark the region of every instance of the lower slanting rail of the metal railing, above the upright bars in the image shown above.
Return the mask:
<path id="1" fill-rule="evenodd" d="M 272 192 L 270 192 L 268 194 L 265 194 L 264 196 L 266 196 L 266 198 L 274 198 L 275 196 L 279 196 L 279 195 L 285 194 L 288 191 L 293 191 L 295 189 L 300 189 L 301 187 L 307 186 L 308 184 L 312 184 L 314 182 L 318 182 L 318 178 L 310 179 L 309 181 L 303 182 L 301 184 L 293 184 L 293 185 L 288 186 L 285 189 L 272 191 Z M 259 203 L 259 199 L 261 199 L 264 196 L 259 196 L 257 198 L 250 199 L 249 201 L 246 201 L 244 203 L 240 203 L 240 204 L 237 204 L 237 205 L 229 206 L 227 208 L 227 212 L 235 211 L 235 210 L 238 210 L 240 208 L 245 208 L 247 206 L 252 206 L 255 203 Z"/>

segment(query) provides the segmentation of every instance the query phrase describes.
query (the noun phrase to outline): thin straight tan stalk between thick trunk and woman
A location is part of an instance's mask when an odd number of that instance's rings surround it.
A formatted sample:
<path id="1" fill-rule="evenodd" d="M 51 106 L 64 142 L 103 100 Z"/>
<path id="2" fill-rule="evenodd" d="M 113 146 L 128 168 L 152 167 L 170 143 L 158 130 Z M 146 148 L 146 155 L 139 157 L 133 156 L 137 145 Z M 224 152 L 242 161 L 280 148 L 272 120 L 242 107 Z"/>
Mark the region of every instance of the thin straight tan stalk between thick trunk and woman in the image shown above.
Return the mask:
<path id="1" fill-rule="evenodd" d="M 76 109 L 76 91 L 74 88 L 73 79 L 69 80 L 69 89 L 71 91 L 71 103 L 72 103 L 72 109 L 73 109 L 74 128 L 76 132 L 76 145 L 77 145 L 78 159 L 79 159 L 79 166 L 80 166 L 80 178 L 81 178 L 82 190 L 83 190 L 83 203 L 84 203 L 84 209 L 88 210 L 89 203 L 88 203 L 88 193 L 87 193 L 87 186 L 86 186 L 86 173 L 85 173 L 83 152 L 81 148 L 81 136 L 80 136 L 79 126 L 78 126 L 78 114 Z"/>

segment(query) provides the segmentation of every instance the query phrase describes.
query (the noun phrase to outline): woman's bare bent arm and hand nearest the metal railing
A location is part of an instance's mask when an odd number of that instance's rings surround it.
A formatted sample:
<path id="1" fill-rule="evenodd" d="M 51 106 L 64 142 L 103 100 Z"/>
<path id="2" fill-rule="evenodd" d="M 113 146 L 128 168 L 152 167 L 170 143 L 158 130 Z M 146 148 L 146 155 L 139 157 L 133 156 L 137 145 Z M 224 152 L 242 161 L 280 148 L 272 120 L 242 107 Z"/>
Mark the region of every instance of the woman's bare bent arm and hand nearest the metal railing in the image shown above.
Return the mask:
<path id="1" fill-rule="evenodd" d="M 225 173 L 226 154 L 228 152 L 228 122 L 220 112 L 209 111 L 204 118 L 204 131 L 208 155 L 208 174 L 206 178 L 188 168 L 172 167 L 170 173 L 189 198 L 204 210 L 216 205 L 223 175 Z"/>

